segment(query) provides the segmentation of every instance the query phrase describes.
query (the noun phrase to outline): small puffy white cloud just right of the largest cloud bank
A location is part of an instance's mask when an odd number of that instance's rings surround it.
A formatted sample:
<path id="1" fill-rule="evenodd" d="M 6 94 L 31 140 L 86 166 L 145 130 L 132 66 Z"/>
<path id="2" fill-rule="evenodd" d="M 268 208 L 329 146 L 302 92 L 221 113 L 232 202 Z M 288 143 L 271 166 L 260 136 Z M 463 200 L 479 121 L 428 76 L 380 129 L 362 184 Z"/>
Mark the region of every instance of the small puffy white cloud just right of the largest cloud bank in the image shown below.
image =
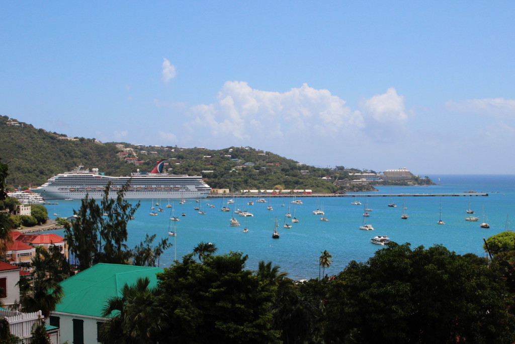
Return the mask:
<path id="1" fill-rule="evenodd" d="M 404 107 L 404 96 L 397 94 L 393 87 L 388 88 L 386 93 L 363 99 L 359 106 L 364 116 L 369 116 L 380 123 L 403 123 L 408 118 Z"/>

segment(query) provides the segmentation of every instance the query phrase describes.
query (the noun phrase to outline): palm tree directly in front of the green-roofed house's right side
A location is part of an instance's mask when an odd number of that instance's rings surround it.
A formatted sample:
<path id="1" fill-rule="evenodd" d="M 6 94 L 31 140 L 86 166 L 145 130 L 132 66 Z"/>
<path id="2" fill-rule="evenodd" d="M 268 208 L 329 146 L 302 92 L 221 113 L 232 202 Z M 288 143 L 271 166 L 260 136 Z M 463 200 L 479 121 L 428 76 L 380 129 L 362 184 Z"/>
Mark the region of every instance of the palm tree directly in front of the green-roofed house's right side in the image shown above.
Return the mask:
<path id="1" fill-rule="evenodd" d="M 155 343 L 161 330 L 161 317 L 157 311 L 156 297 L 162 292 L 158 286 L 148 287 L 148 277 L 136 284 L 125 284 L 122 296 L 107 300 L 102 317 L 111 317 L 101 328 L 100 336 L 105 343 Z"/>

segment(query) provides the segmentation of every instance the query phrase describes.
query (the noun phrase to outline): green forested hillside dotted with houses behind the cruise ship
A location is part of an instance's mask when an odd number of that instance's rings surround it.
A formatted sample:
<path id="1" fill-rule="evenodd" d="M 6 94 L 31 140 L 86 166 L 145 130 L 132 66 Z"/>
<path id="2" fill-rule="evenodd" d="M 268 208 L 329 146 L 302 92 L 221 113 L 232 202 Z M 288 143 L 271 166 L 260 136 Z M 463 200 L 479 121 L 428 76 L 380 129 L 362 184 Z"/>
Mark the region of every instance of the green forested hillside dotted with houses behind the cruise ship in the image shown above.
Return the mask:
<path id="1" fill-rule="evenodd" d="M 19 125 L 8 124 L 13 121 Z M 165 158 L 170 159 L 167 168 L 173 173 L 202 175 L 213 188 L 234 191 L 281 186 L 284 189 L 312 189 L 319 192 L 337 190 L 332 182 L 321 179 L 330 173 L 329 169 L 300 165 L 297 161 L 252 148 L 209 150 L 122 143 L 125 148 L 133 149 L 133 153 L 127 154 L 128 157 L 144 161 L 136 167 L 117 155 L 121 150 L 115 142 L 101 143 L 88 138 L 68 140 L 63 137 L 66 135 L 50 133 L 0 116 L 0 158 L 9 163 L 7 184 L 11 187 L 38 186 L 49 177 L 79 165 L 89 169 L 98 168 L 106 175 L 129 175 L 138 168 L 150 171 L 157 160 Z"/>

